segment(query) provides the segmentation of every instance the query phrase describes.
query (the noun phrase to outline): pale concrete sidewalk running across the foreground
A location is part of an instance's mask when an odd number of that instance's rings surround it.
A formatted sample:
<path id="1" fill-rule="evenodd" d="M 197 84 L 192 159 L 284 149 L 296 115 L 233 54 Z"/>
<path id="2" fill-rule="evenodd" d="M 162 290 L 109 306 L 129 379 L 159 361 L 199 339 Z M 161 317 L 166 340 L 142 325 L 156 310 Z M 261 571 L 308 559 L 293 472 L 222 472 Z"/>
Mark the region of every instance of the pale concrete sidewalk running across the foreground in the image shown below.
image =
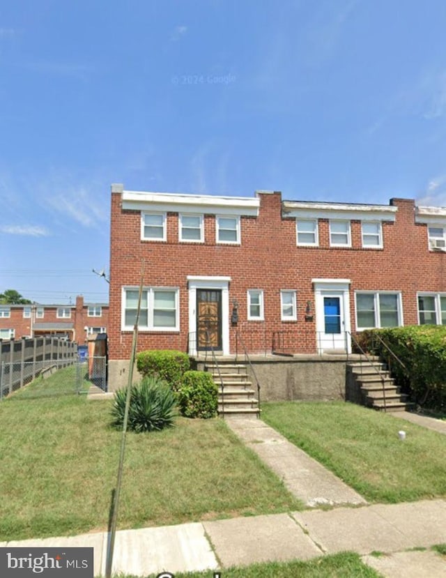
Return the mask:
<path id="1" fill-rule="evenodd" d="M 116 533 L 114 572 L 223 570 L 256 562 L 308 560 L 350 550 L 385 577 L 440 578 L 446 558 L 429 548 L 446 542 L 446 501 L 305 510 Z M 0 543 L 1 547 L 93 547 L 95 576 L 105 573 L 107 533 Z M 372 552 L 385 553 L 371 556 Z"/>

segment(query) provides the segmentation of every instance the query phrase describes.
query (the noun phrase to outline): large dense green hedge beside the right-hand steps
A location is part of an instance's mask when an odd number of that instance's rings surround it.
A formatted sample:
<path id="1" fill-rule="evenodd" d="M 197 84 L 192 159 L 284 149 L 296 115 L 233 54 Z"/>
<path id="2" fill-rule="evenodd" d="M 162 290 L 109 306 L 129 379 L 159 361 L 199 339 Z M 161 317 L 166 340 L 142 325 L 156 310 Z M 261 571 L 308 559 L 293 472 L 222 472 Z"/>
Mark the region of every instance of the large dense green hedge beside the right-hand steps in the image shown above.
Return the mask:
<path id="1" fill-rule="evenodd" d="M 434 405 L 446 402 L 446 326 L 421 325 L 363 331 L 362 349 L 387 359 L 388 351 L 374 338 L 378 334 L 406 366 L 392 359 L 392 374 L 397 383 L 406 383 L 415 400 Z"/>

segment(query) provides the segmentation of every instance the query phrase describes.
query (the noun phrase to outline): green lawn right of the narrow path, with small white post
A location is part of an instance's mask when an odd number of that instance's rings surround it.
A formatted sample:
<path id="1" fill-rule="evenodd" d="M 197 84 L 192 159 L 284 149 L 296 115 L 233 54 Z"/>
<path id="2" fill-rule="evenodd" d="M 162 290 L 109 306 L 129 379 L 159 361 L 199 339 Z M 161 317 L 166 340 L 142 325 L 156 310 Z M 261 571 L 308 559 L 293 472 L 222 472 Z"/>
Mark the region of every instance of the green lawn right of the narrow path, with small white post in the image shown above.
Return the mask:
<path id="1" fill-rule="evenodd" d="M 369 501 L 446 496 L 442 434 L 344 402 L 266 403 L 262 417 Z"/>

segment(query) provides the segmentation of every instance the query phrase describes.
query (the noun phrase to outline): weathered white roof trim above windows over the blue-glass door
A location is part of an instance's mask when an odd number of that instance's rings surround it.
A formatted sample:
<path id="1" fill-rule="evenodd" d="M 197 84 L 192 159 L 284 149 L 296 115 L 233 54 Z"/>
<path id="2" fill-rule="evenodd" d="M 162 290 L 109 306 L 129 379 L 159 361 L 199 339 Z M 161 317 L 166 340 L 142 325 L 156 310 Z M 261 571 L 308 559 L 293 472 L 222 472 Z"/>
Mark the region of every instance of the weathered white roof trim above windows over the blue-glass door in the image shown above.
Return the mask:
<path id="1" fill-rule="evenodd" d="M 358 221 L 394 221 L 398 207 L 341 203 L 284 201 L 284 217 L 296 219 L 346 219 Z"/>

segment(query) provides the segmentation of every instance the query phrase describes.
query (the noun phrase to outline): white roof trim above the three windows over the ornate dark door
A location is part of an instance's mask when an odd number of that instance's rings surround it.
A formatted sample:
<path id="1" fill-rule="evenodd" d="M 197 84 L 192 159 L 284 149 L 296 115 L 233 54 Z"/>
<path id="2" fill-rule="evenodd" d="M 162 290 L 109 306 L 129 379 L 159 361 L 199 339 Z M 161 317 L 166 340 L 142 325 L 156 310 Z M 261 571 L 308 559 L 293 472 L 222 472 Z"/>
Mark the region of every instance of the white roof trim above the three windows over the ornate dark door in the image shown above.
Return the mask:
<path id="1" fill-rule="evenodd" d="M 123 191 L 123 208 L 136 211 L 170 211 L 219 215 L 259 215 L 259 199 L 183 195 L 172 192 Z"/>

